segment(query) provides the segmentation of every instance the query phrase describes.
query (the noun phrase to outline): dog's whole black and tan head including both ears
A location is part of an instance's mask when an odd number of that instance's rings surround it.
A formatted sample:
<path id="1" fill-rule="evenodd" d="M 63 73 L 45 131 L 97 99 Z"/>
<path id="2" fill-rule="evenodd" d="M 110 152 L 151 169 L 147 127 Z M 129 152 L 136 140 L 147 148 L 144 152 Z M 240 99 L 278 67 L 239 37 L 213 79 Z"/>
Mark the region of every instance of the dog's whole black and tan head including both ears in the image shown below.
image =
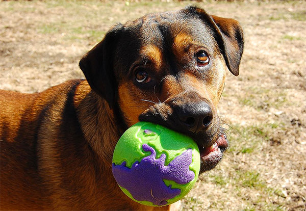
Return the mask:
<path id="1" fill-rule="evenodd" d="M 149 121 L 190 136 L 206 171 L 228 146 L 217 105 L 225 72 L 238 75 L 242 51 L 237 21 L 189 7 L 117 25 L 80 67 L 126 126 Z"/>

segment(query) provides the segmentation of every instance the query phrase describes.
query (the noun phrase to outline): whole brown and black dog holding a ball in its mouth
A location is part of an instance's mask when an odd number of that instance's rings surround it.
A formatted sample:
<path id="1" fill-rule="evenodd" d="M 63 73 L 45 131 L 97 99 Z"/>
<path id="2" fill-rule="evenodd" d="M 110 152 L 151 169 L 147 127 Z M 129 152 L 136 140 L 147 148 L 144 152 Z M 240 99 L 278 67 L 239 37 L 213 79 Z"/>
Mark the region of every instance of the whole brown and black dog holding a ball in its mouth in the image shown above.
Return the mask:
<path id="1" fill-rule="evenodd" d="M 237 21 L 188 7 L 116 25 L 80 61 L 87 81 L 0 91 L 1 209 L 171 209 L 123 194 L 116 142 L 138 121 L 159 123 L 197 142 L 201 171 L 214 168 L 228 145 L 217 104 L 242 51 Z"/>

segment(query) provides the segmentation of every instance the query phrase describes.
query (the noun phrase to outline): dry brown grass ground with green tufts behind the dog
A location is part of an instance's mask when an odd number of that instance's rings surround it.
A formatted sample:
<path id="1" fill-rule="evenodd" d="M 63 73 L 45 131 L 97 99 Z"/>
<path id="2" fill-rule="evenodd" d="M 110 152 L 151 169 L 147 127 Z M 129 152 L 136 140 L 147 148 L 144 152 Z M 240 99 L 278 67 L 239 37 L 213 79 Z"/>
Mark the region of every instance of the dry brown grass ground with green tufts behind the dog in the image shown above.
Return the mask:
<path id="1" fill-rule="evenodd" d="M 239 20 L 245 50 L 219 106 L 231 147 L 182 210 L 306 210 L 305 1 L 0 2 L 0 89 L 84 78 L 79 60 L 111 25 L 190 4 Z"/>

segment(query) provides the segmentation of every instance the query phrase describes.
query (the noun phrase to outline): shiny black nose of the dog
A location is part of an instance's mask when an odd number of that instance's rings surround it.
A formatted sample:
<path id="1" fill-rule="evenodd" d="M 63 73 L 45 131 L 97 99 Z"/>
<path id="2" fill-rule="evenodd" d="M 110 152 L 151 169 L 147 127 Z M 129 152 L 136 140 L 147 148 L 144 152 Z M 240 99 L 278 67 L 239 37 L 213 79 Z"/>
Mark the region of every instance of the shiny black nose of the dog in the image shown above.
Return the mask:
<path id="1" fill-rule="evenodd" d="M 181 105 L 177 115 L 181 126 L 192 133 L 207 129 L 213 120 L 213 111 L 206 101 Z"/>

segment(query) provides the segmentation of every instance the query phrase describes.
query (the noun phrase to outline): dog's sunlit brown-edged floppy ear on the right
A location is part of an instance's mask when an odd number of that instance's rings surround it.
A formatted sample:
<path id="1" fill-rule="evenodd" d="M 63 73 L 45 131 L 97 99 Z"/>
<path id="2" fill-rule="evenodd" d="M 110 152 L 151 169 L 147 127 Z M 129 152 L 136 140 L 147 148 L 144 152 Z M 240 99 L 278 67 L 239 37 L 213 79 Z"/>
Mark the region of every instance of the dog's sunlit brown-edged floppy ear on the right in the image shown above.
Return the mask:
<path id="1" fill-rule="evenodd" d="M 234 19 L 210 16 L 205 10 L 197 7 L 188 7 L 187 10 L 209 24 L 214 31 L 228 70 L 236 76 L 239 75 L 239 64 L 243 52 L 243 31 L 239 22 Z"/>

